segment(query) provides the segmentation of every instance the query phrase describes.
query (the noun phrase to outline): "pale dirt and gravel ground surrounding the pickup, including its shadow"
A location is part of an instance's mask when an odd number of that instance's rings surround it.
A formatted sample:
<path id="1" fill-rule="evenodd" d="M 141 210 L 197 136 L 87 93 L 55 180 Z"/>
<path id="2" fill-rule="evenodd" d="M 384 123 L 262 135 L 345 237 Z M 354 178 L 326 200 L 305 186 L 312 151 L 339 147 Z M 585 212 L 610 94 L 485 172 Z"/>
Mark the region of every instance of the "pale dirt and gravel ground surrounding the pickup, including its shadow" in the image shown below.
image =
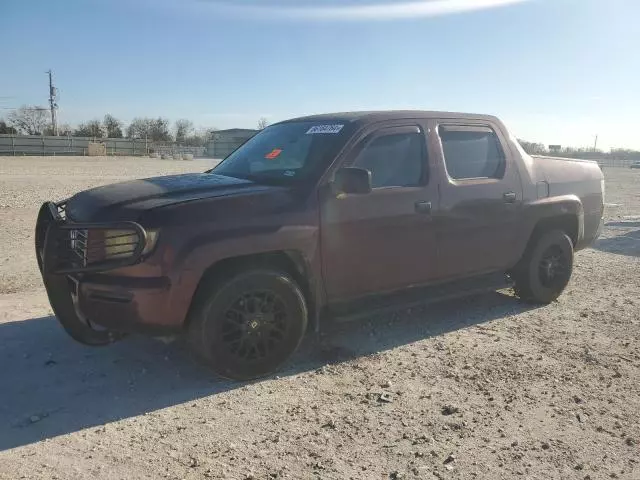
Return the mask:
<path id="1" fill-rule="evenodd" d="M 247 384 L 180 341 L 74 343 L 39 204 L 211 164 L 0 157 L 0 478 L 640 478 L 640 171 L 605 170 L 603 236 L 547 307 L 504 291 L 332 325 Z"/>

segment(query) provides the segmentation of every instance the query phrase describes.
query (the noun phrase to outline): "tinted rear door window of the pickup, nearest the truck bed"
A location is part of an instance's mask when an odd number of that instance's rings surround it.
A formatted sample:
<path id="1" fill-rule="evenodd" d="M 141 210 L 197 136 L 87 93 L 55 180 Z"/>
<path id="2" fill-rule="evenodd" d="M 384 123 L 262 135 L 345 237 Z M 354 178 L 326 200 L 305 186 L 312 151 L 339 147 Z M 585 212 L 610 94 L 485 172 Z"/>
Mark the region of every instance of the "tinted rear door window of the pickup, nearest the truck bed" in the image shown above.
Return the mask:
<path id="1" fill-rule="evenodd" d="M 504 152 L 492 129 L 441 125 L 438 131 L 451 178 L 462 180 L 504 176 Z"/>

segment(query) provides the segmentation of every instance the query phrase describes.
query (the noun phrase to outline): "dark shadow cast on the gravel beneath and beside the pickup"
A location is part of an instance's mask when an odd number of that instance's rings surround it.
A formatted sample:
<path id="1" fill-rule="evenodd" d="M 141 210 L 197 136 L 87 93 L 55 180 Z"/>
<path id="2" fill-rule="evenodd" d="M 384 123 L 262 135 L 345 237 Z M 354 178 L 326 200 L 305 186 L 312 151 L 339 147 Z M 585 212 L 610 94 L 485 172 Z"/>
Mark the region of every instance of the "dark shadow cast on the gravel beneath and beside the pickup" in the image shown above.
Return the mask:
<path id="1" fill-rule="evenodd" d="M 279 375 L 313 371 L 529 308 L 492 292 L 385 318 L 328 324 L 322 335 L 303 342 Z M 73 342 L 54 317 L 0 324 L 0 338 L 0 451 L 243 386 L 198 365 L 180 341 L 134 337 L 88 348 Z"/>

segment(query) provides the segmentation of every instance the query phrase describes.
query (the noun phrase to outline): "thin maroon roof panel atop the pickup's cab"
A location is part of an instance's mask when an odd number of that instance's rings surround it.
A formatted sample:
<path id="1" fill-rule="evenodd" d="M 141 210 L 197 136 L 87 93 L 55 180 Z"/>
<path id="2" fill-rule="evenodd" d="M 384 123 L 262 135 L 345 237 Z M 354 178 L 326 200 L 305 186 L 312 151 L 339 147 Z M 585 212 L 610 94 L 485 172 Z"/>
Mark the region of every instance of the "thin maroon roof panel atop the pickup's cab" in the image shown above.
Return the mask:
<path id="1" fill-rule="evenodd" d="M 434 112 L 426 110 L 378 110 L 364 112 L 337 112 L 323 113 L 320 115 L 309 115 L 306 117 L 292 118 L 286 122 L 319 122 L 319 121 L 340 121 L 357 123 L 375 123 L 384 120 L 401 120 L 404 118 L 450 118 L 450 119 L 475 119 L 498 121 L 493 115 L 479 115 L 474 113 L 458 112 Z"/>

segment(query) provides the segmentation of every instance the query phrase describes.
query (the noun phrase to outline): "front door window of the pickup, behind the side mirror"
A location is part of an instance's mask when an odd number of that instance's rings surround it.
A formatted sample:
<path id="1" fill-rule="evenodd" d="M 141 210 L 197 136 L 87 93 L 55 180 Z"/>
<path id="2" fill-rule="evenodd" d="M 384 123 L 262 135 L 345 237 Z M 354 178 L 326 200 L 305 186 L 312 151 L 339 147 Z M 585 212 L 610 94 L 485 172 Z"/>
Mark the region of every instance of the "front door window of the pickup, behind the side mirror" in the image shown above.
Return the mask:
<path id="1" fill-rule="evenodd" d="M 373 188 L 410 187 L 422 183 L 425 157 L 421 133 L 395 133 L 372 140 L 360 151 L 353 166 L 371 172 Z"/>

